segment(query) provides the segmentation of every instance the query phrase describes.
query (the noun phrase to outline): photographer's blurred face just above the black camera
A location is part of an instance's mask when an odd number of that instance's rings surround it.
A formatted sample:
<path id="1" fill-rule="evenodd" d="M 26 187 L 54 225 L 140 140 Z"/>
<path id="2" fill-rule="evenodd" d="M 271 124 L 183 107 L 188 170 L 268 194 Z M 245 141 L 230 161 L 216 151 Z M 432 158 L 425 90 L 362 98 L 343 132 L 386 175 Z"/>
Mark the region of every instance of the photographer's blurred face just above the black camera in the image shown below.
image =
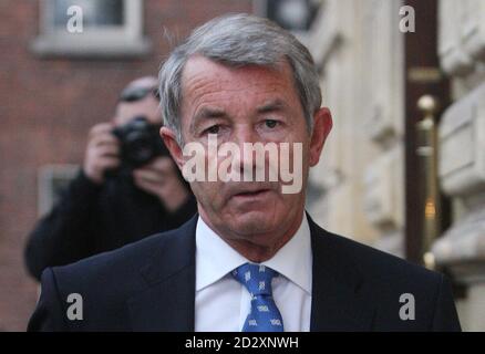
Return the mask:
<path id="1" fill-rule="evenodd" d="M 113 123 L 115 126 L 125 125 L 138 116 L 146 117 L 152 124 L 162 124 L 158 101 L 153 95 L 147 95 L 135 102 L 120 102 L 116 106 L 116 115 Z"/>

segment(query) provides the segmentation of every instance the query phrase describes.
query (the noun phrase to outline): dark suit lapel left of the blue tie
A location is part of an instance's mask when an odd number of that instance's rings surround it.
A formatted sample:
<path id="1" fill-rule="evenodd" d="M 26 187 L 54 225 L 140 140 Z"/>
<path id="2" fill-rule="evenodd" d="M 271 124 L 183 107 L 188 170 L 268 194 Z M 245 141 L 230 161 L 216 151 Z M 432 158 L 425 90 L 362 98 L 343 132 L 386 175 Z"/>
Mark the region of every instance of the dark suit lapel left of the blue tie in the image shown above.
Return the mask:
<path id="1" fill-rule="evenodd" d="M 145 290 L 127 301 L 134 331 L 194 331 L 197 215 L 161 237 L 141 269 Z"/>

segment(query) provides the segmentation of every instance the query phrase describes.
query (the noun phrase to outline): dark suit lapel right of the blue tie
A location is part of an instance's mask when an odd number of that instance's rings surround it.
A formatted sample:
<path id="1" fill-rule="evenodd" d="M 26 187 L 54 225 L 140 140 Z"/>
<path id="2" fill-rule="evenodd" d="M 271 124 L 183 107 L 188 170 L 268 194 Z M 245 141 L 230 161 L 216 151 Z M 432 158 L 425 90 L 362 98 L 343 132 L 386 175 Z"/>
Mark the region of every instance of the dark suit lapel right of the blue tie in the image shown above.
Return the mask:
<path id="1" fill-rule="evenodd" d="M 336 236 L 321 229 L 310 216 L 308 220 L 313 251 L 310 331 L 370 331 L 374 306 L 365 295 L 352 254 L 342 251 Z"/>

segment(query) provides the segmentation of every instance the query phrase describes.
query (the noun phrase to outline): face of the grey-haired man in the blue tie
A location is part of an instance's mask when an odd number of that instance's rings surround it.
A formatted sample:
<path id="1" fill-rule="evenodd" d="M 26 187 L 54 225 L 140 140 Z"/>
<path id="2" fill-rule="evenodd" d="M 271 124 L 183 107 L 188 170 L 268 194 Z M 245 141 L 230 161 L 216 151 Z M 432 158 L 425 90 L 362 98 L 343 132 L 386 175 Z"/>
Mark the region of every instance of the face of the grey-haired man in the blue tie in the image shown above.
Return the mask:
<path id="1" fill-rule="evenodd" d="M 215 229 L 249 242 L 275 242 L 268 235 L 277 237 L 278 230 L 301 221 L 308 169 L 317 164 L 323 144 L 323 140 L 321 146 L 312 144 L 289 64 L 281 63 L 274 70 L 231 69 L 194 56 L 184 67 L 182 82 L 185 144 L 198 142 L 207 146 L 208 134 L 217 134 L 219 145 L 237 144 L 241 152 L 244 143 L 276 143 L 278 146 L 289 143 L 289 166 L 293 160 L 292 144 L 302 144 L 302 176 L 299 177 L 302 188 L 297 194 L 282 194 L 281 181 L 192 183 L 199 214 Z M 322 124 L 317 125 L 321 135 Z M 174 155 L 179 165 L 188 158 L 180 157 L 179 152 Z M 216 157 L 206 154 L 205 158 L 207 167 L 208 160 Z M 217 163 L 221 160 L 219 157 Z M 249 163 L 248 156 L 241 155 L 240 166 L 256 168 L 255 159 Z"/>

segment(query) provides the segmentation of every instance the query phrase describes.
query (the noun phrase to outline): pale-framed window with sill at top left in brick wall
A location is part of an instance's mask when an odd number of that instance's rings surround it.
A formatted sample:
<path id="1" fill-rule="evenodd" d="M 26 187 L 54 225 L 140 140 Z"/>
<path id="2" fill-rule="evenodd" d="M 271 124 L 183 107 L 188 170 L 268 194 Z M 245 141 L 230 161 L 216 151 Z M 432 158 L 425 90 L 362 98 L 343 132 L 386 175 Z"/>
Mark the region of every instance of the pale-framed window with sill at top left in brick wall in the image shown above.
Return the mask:
<path id="1" fill-rule="evenodd" d="M 143 0 L 41 0 L 41 56 L 140 56 L 151 50 L 143 37 Z"/>

